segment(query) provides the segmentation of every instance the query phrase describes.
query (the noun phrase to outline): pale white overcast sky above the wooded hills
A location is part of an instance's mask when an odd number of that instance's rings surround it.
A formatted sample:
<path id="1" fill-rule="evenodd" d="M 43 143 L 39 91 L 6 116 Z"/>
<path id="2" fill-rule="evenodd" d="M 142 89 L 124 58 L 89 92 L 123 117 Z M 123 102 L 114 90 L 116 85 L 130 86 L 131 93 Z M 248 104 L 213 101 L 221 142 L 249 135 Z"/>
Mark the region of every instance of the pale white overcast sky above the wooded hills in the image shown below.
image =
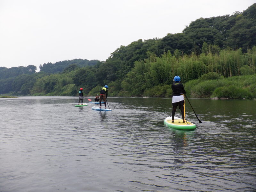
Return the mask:
<path id="1" fill-rule="evenodd" d="M 0 0 L 0 67 L 105 61 L 121 45 L 181 33 L 256 0 Z M 38 71 L 38 70 L 37 70 Z"/>

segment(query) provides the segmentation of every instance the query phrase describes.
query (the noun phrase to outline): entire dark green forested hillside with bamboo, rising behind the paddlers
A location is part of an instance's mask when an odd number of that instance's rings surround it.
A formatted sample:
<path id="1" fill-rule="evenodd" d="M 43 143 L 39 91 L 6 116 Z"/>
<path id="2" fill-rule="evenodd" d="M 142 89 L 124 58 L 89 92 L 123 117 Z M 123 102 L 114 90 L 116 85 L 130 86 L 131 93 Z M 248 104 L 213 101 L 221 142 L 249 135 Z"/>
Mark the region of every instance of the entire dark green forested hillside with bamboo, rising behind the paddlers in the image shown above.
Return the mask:
<path id="1" fill-rule="evenodd" d="M 77 89 L 84 87 L 85 94 L 94 95 L 108 84 L 111 96 L 169 97 L 172 94 L 169 85 L 176 75 L 181 76 L 183 83 L 196 79 L 255 76 L 255 13 L 256 4 L 253 4 L 244 12 L 200 18 L 191 22 L 182 33 L 139 39 L 120 46 L 102 62 L 60 61 L 40 65 L 39 73 L 32 70 L 33 74 L 20 72 L 16 75 L 5 75 L 0 68 L 0 93 L 75 96 Z M 255 97 L 253 81 L 246 86 L 240 85 L 251 93 L 248 98 Z M 192 87 L 189 82 L 187 86 Z M 207 89 L 210 89 L 207 94 L 189 93 L 207 97 L 216 87 Z"/>

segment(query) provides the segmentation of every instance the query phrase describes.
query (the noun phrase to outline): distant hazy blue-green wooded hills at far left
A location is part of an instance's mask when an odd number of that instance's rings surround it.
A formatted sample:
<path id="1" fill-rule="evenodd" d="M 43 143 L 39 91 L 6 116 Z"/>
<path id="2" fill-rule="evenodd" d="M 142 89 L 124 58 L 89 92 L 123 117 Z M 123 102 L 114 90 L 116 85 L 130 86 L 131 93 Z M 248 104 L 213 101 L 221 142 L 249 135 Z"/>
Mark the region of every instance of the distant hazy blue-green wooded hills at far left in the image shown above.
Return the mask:
<path id="1" fill-rule="evenodd" d="M 18 95 L 31 95 L 32 88 L 37 79 L 50 74 L 70 72 L 85 66 L 100 65 L 99 60 L 73 59 L 40 65 L 40 72 L 36 73 L 36 66 L 27 67 L 0 67 L 0 94 L 11 93 Z M 54 83 L 50 83 L 53 85 Z M 47 93 L 47 92 L 46 92 Z"/>

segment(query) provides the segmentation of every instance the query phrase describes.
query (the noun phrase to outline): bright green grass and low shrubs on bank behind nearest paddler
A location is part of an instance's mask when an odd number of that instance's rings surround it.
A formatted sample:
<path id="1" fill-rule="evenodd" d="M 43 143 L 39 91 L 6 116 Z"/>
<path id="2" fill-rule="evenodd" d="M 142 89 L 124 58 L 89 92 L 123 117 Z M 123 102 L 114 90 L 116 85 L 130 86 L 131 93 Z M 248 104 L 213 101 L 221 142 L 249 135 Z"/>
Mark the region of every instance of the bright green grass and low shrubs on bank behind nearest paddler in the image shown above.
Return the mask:
<path id="1" fill-rule="evenodd" d="M 187 96 L 193 98 L 252 99 L 256 98 L 256 74 L 224 78 L 216 73 L 208 73 L 199 79 L 188 81 L 184 87 Z M 131 96 L 126 94 L 125 96 Z M 171 97 L 171 85 L 156 85 L 145 90 L 142 96 Z"/>

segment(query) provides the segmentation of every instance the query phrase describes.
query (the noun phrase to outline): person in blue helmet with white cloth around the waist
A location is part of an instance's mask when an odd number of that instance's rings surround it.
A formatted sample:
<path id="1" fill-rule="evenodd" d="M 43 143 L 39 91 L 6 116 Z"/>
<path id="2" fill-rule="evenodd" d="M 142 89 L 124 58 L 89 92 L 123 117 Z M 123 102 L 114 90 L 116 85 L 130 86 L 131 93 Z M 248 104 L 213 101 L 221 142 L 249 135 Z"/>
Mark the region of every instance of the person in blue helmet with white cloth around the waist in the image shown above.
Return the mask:
<path id="1" fill-rule="evenodd" d="M 183 94 L 186 94 L 186 91 L 184 89 L 183 84 L 180 83 L 180 77 L 175 76 L 173 79 L 172 84 L 172 123 L 174 123 L 174 115 L 177 109 L 177 106 L 179 106 L 183 123 L 185 123 L 185 115 L 184 115 L 184 96 Z"/>

